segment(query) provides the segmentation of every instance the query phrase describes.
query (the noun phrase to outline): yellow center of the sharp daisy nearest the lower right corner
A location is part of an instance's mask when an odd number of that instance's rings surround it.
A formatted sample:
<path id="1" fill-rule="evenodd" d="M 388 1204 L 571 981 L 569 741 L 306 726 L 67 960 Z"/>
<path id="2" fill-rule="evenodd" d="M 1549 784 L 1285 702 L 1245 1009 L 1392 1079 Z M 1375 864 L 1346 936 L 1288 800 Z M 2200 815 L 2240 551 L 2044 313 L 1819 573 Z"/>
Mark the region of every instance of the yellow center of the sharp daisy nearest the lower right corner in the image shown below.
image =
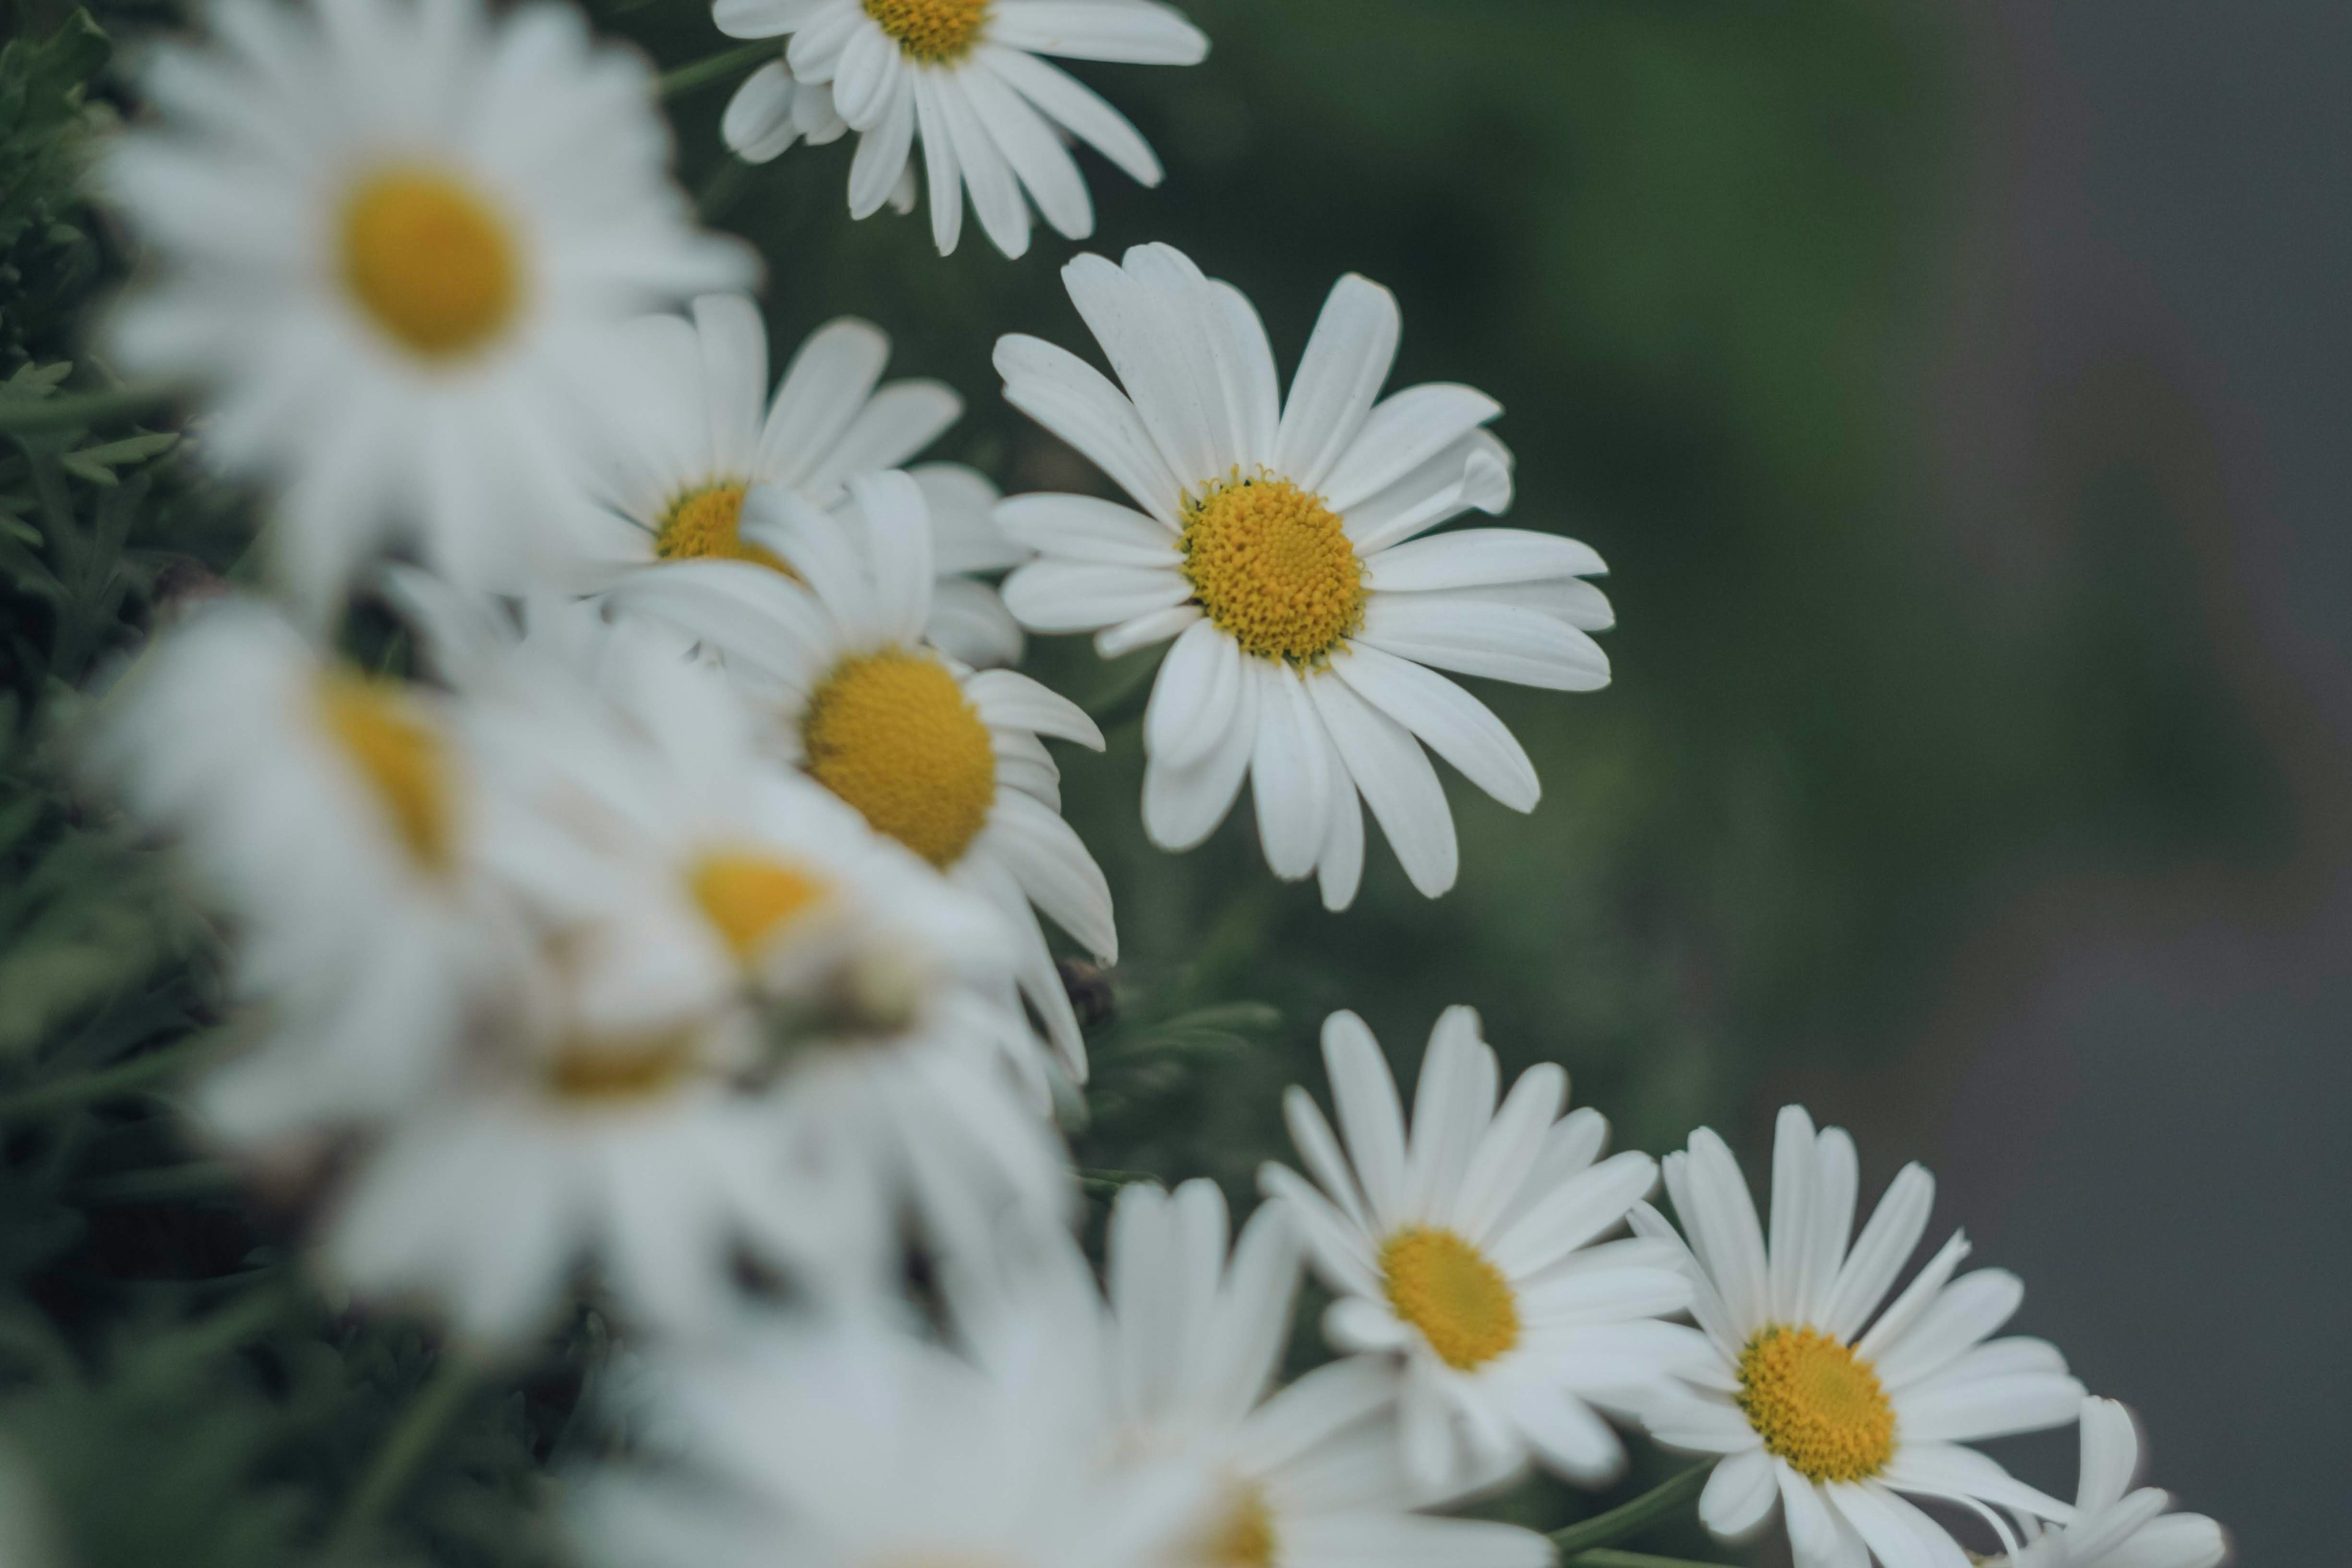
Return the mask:
<path id="1" fill-rule="evenodd" d="M 1813 1328 L 1764 1328 L 1748 1340 L 1738 1406 L 1764 1448 L 1813 1481 L 1860 1481 L 1896 1455 L 1896 1408 L 1879 1375 Z"/>

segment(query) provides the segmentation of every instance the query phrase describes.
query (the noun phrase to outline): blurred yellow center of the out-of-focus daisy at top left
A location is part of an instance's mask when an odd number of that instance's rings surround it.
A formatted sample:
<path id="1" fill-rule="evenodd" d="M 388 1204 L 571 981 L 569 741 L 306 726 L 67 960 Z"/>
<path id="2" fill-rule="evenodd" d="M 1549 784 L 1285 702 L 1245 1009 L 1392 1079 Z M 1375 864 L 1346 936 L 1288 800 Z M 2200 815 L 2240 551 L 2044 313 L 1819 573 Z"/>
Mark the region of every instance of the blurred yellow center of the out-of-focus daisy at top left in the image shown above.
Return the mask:
<path id="1" fill-rule="evenodd" d="M 515 320 L 522 268 L 492 207 L 449 174 L 390 167 L 343 205 L 343 284 L 423 360 L 487 348 Z"/>

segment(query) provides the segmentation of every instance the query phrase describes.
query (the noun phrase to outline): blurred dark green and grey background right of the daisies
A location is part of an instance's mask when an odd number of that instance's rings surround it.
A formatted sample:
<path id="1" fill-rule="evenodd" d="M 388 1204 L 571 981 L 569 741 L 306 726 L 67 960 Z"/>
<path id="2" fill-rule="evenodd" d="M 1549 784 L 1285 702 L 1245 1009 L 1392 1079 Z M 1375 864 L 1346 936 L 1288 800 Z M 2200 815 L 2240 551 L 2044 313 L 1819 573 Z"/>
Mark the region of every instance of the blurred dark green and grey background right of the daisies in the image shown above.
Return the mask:
<path id="1" fill-rule="evenodd" d="M 2020 1326 L 2140 1408 L 2241 1561 L 2340 1556 L 2352 9 L 1190 9 L 1204 68 L 1080 68 L 1169 162 L 1152 193 L 1094 165 L 1094 247 L 1188 249 L 1284 367 L 1338 273 L 1390 284 L 1399 376 L 1508 407 L 1515 522 L 1609 557 L 1618 679 L 1479 686 L 1543 804 L 1449 780 L 1461 886 L 1423 903 L 1374 851 L 1345 917 L 1268 882 L 1247 809 L 1150 851 L 1134 724 L 1073 759 L 1127 990 L 1282 1011 L 1176 1086 L 1112 1037 L 1096 1152 L 1247 1190 L 1331 1006 L 1411 1067 L 1472 1001 L 1625 1143 L 1715 1121 L 1750 1171 L 1804 1098 L 1867 1185 L 1940 1173 L 1938 1227 L 2025 1274 Z M 680 108 L 689 148 L 722 99 Z M 974 395 L 967 456 L 1098 484 L 988 371 L 1002 329 L 1091 353 L 1068 247 L 842 233 L 844 165 L 713 190 L 774 259 L 779 348 L 870 315 Z M 1134 679 L 1037 658 L 1110 712 Z M 2009 1458 L 2070 1486 L 2070 1436 Z"/>

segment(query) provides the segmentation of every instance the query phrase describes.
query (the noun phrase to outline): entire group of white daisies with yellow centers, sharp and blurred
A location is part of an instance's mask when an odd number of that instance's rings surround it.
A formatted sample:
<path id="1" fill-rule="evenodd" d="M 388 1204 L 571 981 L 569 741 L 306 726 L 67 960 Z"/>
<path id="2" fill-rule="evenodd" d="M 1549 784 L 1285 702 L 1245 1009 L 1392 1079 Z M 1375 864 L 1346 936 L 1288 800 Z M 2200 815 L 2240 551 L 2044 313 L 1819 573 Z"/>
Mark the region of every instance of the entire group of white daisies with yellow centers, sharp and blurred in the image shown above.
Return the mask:
<path id="1" fill-rule="evenodd" d="M 1268 867 L 1352 903 L 1367 811 L 1458 870 L 1432 755 L 1517 811 L 1536 771 L 1451 675 L 1606 684 L 1590 583 L 1501 512 L 1498 404 L 1383 395 L 1397 301 L 1331 292 L 1284 390 L 1232 284 L 1164 244 L 1063 277 L 1110 364 L 1007 336 L 1004 397 L 1103 494 L 1002 496 L 922 454 L 960 418 L 854 320 L 771 378 L 755 261 L 668 179 L 654 80 L 579 12 L 216 0 L 155 49 L 103 179 L 148 247 L 122 364 L 202 397 L 266 498 L 268 592 L 162 630 L 92 769 L 233 936 L 254 1039 L 205 1135 L 318 1192 L 318 1262 L 496 1356 L 593 1300 L 656 1371 L 644 1465 L 581 1488 L 616 1566 L 1541 1568 L 1446 1519 L 1531 1465 L 1602 1486 L 1621 1429 L 1715 1458 L 1717 1535 L 1806 1568 L 2209 1568 L 2131 1490 L 2129 1415 L 1992 1338 L 2020 1286 L 1955 1239 L 1889 1302 L 1931 1182 L 1853 1237 L 1856 1159 L 1785 1112 L 1771 1239 L 1724 1143 L 1606 1154 L 1468 1009 L 1411 1126 L 1369 1030 L 1294 1088 L 1305 1173 L 1120 1192 L 1103 1281 L 1063 1117 L 1087 1046 L 1056 945 L 1117 959 L 1061 816 L 1084 710 L 1025 632 L 1164 646 L 1141 816 L 1169 851 L 1242 785 Z M 1042 56 L 1192 63 L 1152 0 L 717 0 L 776 38 L 748 160 L 849 129 L 849 205 L 964 193 L 1007 254 L 1084 235 L 1068 143 L 1160 169 Z M 350 649 L 355 599 L 400 635 Z M 1675 1220 L 1649 1206 L 1663 1178 Z M 1275 1387 L 1303 1269 L 1338 1359 Z M 2077 1502 L 1980 1439 L 2082 1422 Z"/>

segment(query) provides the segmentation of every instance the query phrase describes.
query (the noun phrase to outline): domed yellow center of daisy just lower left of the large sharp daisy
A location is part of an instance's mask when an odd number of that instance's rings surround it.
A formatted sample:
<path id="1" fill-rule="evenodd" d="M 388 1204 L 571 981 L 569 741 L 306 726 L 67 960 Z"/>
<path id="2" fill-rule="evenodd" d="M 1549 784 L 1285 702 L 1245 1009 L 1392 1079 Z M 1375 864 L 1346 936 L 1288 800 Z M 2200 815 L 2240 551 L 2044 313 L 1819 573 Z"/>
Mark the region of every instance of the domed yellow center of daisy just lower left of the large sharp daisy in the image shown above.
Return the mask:
<path id="1" fill-rule="evenodd" d="M 929 654 L 842 661 L 800 722 L 809 771 L 931 865 L 955 865 L 997 799 L 988 726 Z"/>

